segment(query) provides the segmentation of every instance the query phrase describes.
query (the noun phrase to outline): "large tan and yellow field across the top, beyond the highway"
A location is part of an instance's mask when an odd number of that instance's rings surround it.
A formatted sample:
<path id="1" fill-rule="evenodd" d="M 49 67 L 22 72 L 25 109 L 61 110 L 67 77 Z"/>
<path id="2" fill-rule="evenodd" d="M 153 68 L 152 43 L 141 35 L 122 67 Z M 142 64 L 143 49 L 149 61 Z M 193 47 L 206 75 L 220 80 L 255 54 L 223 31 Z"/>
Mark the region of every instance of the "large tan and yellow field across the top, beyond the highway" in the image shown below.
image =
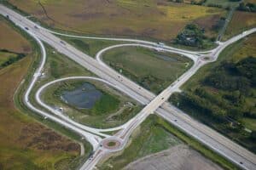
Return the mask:
<path id="1" fill-rule="evenodd" d="M 225 13 L 220 8 L 164 0 L 89 0 L 86 3 L 83 0 L 41 3 L 9 0 L 9 3 L 56 29 L 87 35 L 150 37 L 162 41 L 172 40 L 184 26 L 197 21 L 207 25 L 207 34 L 212 35 L 214 32 L 208 28 L 216 22 L 210 21 Z"/>

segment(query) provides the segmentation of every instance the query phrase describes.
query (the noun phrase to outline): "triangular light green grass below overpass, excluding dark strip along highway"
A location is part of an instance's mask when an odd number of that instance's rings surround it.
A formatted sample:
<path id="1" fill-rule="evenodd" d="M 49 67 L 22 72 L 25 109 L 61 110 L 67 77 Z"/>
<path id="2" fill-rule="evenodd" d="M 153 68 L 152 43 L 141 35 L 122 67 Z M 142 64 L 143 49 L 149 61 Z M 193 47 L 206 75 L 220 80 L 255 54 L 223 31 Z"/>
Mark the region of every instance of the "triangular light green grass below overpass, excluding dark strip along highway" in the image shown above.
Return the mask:
<path id="1" fill-rule="evenodd" d="M 122 169 L 131 161 L 140 157 L 166 150 L 181 141 L 161 126 L 160 118 L 149 116 L 131 135 L 131 143 L 125 148 L 120 156 L 112 156 L 104 162 L 100 169 Z M 109 167 L 109 164 L 113 167 Z"/>

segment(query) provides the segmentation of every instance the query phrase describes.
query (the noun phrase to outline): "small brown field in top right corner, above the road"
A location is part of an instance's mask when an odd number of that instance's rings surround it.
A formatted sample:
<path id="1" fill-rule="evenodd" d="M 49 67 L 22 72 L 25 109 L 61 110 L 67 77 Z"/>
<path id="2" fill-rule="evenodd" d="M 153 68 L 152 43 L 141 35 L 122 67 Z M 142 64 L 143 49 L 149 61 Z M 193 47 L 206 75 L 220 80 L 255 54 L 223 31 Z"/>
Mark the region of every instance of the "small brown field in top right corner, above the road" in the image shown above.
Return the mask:
<path id="1" fill-rule="evenodd" d="M 235 36 L 236 34 L 246 31 L 249 28 L 256 26 L 256 14 L 235 11 L 233 18 L 230 20 L 230 24 L 225 31 L 224 39 Z"/>

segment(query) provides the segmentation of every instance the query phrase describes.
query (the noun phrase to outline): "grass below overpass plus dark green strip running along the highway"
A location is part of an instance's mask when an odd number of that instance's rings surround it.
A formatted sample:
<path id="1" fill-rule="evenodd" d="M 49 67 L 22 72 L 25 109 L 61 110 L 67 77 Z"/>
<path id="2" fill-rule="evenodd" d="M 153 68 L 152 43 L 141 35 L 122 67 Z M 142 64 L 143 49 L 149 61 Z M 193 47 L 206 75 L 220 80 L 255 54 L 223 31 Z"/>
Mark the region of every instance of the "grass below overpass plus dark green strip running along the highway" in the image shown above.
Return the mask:
<path id="1" fill-rule="evenodd" d="M 238 169 L 238 167 L 224 159 L 224 157 L 209 150 L 204 144 L 199 143 L 197 140 L 178 130 L 177 127 L 173 127 L 169 122 L 154 115 L 149 116 L 142 123 L 141 127 L 131 135 L 131 143 L 120 155 L 113 155 L 107 161 L 103 162 L 99 169 L 122 169 L 138 158 L 169 149 L 183 142 L 199 151 L 203 156 L 215 161 L 218 165 L 224 167 L 224 169 Z"/>

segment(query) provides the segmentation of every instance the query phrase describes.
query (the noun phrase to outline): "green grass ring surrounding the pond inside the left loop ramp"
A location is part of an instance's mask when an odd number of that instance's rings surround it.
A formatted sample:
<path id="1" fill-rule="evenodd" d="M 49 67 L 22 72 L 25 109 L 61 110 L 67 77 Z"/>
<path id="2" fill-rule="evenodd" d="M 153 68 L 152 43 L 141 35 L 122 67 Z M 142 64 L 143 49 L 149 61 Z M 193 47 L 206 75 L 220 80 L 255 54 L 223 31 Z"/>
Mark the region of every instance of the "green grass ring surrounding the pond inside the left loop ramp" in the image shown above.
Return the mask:
<path id="1" fill-rule="evenodd" d="M 78 88 L 85 82 L 93 84 L 102 93 L 101 99 L 97 100 L 91 109 L 79 109 L 73 105 L 68 105 L 61 99 L 63 91 Z M 57 83 L 46 89 L 43 99 L 49 105 L 64 108 L 67 116 L 90 127 L 116 127 L 127 122 L 141 110 L 141 106 L 126 95 L 102 82 L 90 80 Z"/>

